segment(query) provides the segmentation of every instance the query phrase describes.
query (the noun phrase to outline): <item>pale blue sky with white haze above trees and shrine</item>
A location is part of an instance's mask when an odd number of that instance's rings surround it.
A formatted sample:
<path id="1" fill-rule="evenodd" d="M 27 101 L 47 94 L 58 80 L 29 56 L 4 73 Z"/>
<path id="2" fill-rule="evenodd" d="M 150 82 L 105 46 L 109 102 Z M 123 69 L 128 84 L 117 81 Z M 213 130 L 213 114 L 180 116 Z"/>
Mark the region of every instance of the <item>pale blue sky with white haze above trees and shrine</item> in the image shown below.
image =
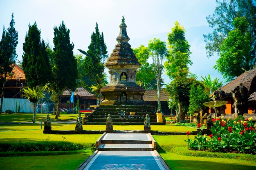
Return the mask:
<path id="1" fill-rule="evenodd" d="M 132 48 L 147 45 L 154 37 L 166 41 L 175 21 L 186 29 L 186 38 L 191 45 L 190 71 L 201 76 L 210 74 L 213 78 L 222 76 L 213 70 L 217 57 L 206 56 L 203 34 L 211 32 L 206 17 L 216 8 L 215 0 L 0 0 L 0 29 L 7 28 L 14 13 L 18 31 L 18 59 L 22 59 L 22 44 L 28 31 L 28 24 L 36 21 L 41 37 L 53 46 L 54 26 L 63 20 L 70 29 L 70 39 L 77 49 L 87 50 L 90 36 L 96 22 L 103 31 L 108 53 L 111 54 L 119 24 L 124 15 L 127 33 Z M 2 33 L 2 32 L 1 32 Z M 165 83 L 170 80 L 164 76 Z"/>

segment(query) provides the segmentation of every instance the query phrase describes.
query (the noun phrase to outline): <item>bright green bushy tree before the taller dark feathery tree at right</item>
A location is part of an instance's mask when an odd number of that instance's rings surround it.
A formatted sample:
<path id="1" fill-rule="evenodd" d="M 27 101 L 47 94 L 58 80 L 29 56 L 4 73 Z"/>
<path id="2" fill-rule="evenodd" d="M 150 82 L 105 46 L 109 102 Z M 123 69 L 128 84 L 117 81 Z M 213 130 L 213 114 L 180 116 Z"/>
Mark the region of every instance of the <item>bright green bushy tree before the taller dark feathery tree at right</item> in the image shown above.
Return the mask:
<path id="1" fill-rule="evenodd" d="M 213 68 L 218 70 L 227 81 L 236 78 L 254 65 L 255 56 L 251 56 L 249 23 L 245 17 L 237 17 L 233 22 L 235 29 L 230 31 L 227 38 L 220 45 L 220 58 Z"/>

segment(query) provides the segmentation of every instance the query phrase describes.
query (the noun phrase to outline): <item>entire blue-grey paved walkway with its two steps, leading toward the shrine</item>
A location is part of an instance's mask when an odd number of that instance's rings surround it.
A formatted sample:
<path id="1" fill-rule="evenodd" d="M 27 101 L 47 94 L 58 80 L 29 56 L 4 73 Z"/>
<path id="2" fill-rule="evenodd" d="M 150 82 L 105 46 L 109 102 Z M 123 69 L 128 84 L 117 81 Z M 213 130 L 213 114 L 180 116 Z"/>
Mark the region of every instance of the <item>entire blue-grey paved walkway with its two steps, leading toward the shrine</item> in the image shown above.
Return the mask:
<path id="1" fill-rule="evenodd" d="M 154 142 L 151 137 L 146 133 L 104 133 L 98 139 L 99 150 L 82 163 L 78 170 L 168 170 L 151 144 L 145 145 L 153 150 L 141 147 L 151 140 Z M 108 147 L 101 151 L 104 146 Z"/>

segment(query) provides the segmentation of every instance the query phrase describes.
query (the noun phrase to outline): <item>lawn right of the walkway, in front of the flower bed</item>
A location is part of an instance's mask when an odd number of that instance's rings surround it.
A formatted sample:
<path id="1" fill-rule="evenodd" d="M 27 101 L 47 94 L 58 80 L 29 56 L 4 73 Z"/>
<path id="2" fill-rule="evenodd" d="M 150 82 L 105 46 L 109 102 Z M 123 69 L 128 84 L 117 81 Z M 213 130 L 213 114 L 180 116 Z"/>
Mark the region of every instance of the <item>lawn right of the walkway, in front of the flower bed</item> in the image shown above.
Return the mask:
<path id="1" fill-rule="evenodd" d="M 171 169 L 255 169 L 256 155 L 188 150 L 186 135 L 157 136 L 157 151 Z M 193 138 L 193 136 L 191 136 Z"/>

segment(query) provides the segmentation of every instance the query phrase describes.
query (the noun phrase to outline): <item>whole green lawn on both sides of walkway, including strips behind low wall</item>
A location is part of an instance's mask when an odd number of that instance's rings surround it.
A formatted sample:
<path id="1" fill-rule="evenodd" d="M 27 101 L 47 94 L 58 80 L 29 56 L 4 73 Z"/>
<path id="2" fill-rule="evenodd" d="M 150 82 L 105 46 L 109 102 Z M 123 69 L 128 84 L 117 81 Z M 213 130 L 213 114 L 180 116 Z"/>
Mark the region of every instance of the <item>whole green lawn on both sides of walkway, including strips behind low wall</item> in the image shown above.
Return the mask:
<path id="1" fill-rule="evenodd" d="M 73 115 L 72 115 L 73 116 Z M 75 115 L 76 116 L 76 115 Z M 1 116 L 0 116 L 1 117 Z M 63 116 L 65 117 L 65 116 Z M 43 134 L 40 124 L 1 124 L 0 144 L 22 142 L 65 142 L 95 144 L 101 135 Z M 83 125 L 84 130 L 105 130 L 105 125 Z M 53 130 L 74 130 L 75 124 L 52 123 Z M 151 126 L 158 131 L 195 131 L 195 128 L 167 124 Z M 114 130 L 143 130 L 143 126 L 114 126 Z M 256 155 L 236 153 L 210 153 L 188 150 L 186 135 L 153 135 L 157 151 L 171 169 L 256 169 Z M 193 138 L 191 135 L 190 138 Z M 2 169 L 76 169 L 92 153 L 69 155 L 0 157 Z M 15 163 L 13 163 L 15 162 Z"/>

